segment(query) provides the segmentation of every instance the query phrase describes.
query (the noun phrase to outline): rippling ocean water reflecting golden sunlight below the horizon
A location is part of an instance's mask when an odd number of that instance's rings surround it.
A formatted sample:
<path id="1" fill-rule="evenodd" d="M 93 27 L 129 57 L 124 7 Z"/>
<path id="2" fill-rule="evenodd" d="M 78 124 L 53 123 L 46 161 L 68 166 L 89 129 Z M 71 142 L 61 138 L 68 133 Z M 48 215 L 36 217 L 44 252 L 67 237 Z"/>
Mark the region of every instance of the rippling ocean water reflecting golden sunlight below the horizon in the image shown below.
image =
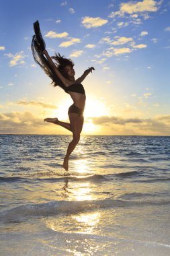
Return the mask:
<path id="1" fill-rule="evenodd" d="M 0 255 L 170 255 L 170 137 L 0 135 Z"/>

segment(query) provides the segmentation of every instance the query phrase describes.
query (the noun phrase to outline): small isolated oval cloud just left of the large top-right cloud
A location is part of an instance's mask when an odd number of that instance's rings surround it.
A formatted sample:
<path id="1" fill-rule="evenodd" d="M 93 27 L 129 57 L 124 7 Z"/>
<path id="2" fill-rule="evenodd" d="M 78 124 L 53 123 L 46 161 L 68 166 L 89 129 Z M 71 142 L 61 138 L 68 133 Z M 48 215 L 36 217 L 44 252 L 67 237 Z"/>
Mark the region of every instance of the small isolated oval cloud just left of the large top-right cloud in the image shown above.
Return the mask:
<path id="1" fill-rule="evenodd" d="M 102 18 L 96 17 L 83 17 L 81 24 L 85 26 L 85 28 L 97 28 L 103 26 L 108 23 L 108 20 L 104 20 Z"/>

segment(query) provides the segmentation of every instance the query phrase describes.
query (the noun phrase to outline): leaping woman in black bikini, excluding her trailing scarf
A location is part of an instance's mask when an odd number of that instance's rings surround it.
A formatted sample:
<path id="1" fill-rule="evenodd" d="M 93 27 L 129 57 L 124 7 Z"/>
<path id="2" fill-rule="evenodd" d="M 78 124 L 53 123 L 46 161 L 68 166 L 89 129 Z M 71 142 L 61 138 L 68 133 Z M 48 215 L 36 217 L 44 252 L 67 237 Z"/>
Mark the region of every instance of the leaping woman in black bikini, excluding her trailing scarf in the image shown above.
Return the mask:
<path id="1" fill-rule="evenodd" d="M 73 140 L 69 143 L 67 154 L 65 156 L 63 167 L 65 170 L 69 169 L 69 156 L 77 146 L 77 143 L 80 139 L 81 130 L 83 128 L 83 111 L 85 108 L 85 90 L 81 82 L 85 79 L 85 77 L 95 70 L 93 67 L 85 70 L 83 75 L 78 79 L 75 79 L 75 70 L 73 69 L 73 61 L 70 59 L 65 59 L 61 57 L 60 54 L 56 55 L 55 57 L 50 58 L 48 52 L 46 50 L 42 51 L 45 55 L 50 67 L 52 67 L 56 76 L 60 79 L 62 84 L 65 86 L 65 92 L 70 94 L 71 98 L 73 99 L 73 105 L 69 108 L 69 120 L 70 123 L 65 123 L 59 121 L 57 118 L 46 118 L 44 121 L 54 123 L 55 125 L 60 125 L 65 127 L 69 131 L 73 133 Z M 52 61 L 54 59 L 56 63 Z"/>

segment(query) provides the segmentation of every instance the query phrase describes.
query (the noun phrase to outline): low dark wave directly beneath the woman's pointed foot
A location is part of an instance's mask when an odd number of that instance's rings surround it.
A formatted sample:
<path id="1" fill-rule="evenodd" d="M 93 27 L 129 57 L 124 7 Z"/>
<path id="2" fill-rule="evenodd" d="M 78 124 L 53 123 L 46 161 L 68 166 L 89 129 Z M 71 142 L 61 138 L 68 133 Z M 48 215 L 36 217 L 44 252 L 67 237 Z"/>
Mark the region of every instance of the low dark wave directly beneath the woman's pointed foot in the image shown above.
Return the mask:
<path id="1" fill-rule="evenodd" d="M 21 176 L 20 176 L 21 175 Z M 67 173 L 57 173 L 57 172 L 38 172 L 35 174 L 20 174 L 19 176 L 11 177 L 0 177 L 0 183 L 37 183 L 37 182 L 49 182 L 49 183 L 58 183 L 65 181 L 77 181 L 84 182 L 89 181 L 91 183 L 107 182 L 115 179 L 132 179 L 132 182 L 140 183 L 157 183 L 157 182 L 168 182 L 170 177 L 153 177 L 148 175 L 147 172 L 142 170 L 132 170 L 125 172 L 118 172 L 112 174 L 89 174 L 89 173 L 76 173 L 76 172 L 67 172 Z M 137 179 L 138 178 L 138 179 Z M 136 180 L 137 179 L 137 180 Z"/>

